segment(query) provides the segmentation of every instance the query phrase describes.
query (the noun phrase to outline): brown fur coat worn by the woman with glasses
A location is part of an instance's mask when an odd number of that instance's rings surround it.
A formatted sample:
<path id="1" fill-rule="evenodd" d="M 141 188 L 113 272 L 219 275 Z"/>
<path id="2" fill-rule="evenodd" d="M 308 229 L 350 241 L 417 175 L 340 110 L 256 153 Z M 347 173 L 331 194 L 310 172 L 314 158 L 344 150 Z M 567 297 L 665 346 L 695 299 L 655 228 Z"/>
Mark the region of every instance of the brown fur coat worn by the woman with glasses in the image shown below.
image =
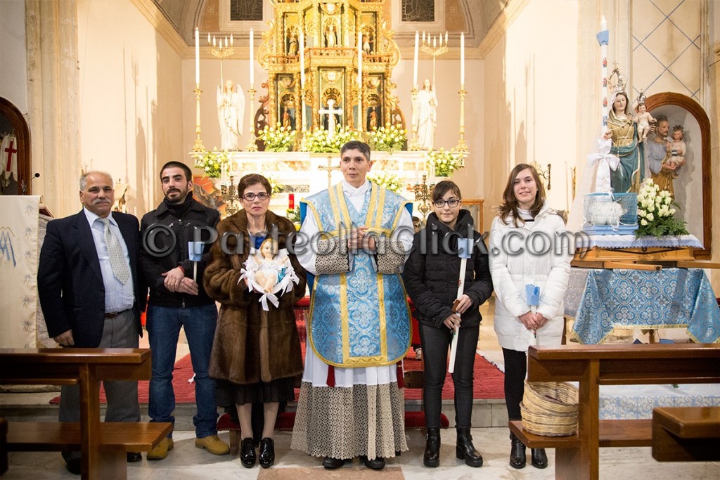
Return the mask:
<path id="1" fill-rule="evenodd" d="M 286 237 L 295 228 L 288 219 L 266 212 L 269 231 L 278 230 L 279 248 L 286 248 Z M 220 242 L 225 232 L 241 233 L 243 253 L 227 255 Z M 250 253 L 248 217 L 245 210 L 217 225 L 218 238 L 212 245 L 212 260 L 205 268 L 204 287 L 210 298 L 220 302 L 215 340 L 210 357 L 210 376 L 235 384 L 256 384 L 296 376 L 302 373 L 300 338 L 295 326 L 292 306 L 305 295 L 305 270 L 295 255 L 289 255 L 292 267 L 300 278 L 292 291 L 279 297 L 279 307 L 269 303 L 265 312 L 258 299 L 260 294 L 248 291 L 240 270 Z M 236 237 L 228 237 L 229 251 L 238 246 Z"/>

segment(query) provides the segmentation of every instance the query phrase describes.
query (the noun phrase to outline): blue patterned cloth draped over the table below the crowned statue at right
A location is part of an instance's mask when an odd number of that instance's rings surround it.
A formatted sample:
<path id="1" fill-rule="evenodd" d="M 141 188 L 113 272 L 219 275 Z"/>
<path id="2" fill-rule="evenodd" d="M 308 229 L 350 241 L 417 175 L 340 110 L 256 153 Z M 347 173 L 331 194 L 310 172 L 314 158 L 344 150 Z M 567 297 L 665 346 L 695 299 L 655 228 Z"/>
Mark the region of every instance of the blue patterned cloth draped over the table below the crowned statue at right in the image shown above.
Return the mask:
<path id="1" fill-rule="evenodd" d="M 720 340 L 720 309 L 699 268 L 659 271 L 571 268 L 565 314 L 585 344 L 602 343 L 613 327 L 687 327 L 698 343 Z"/>

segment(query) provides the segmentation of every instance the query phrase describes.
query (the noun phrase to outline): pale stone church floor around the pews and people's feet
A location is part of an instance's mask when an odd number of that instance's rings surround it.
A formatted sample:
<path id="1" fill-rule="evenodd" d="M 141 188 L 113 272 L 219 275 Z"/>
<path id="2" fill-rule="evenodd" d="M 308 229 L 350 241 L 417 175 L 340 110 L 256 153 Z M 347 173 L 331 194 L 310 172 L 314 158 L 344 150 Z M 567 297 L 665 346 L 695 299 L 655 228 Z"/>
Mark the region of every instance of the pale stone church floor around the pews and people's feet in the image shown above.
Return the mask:
<path id="1" fill-rule="evenodd" d="M 481 308 L 484 320 L 480 327 L 479 350 L 490 353 L 494 358 L 502 359 L 495 332 L 492 330 L 492 306 Z M 141 344 L 147 344 L 147 336 Z M 188 353 L 184 339 L 178 345 L 177 358 Z M 0 407 L 3 402 L 11 402 L 8 395 L 14 397 L 13 404 L 32 404 L 47 402 L 56 393 L 45 394 L 0 394 Z M 50 419 L 48 419 L 50 420 Z M 516 470 L 508 465 L 510 440 L 506 427 L 474 428 L 472 430 L 475 446 L 485 458 L 482 468 L 470 468 L 455 458 L 455 438 L 453 430 L 441 433 L 441 461 L 438 468 L 423 466 L 422 456 L 425 445 L 420 430 L 408 430 L 410 451 L 387 461 L 384 471 L 369 471 L 356 460 L 337 471 L 326 471 L 319 458 L 311 458 L 302 452 L 290 450 L 291 433 L 276 432 L 276 465 L 268 470 L 258 466 L 243 468 L 239 458 L 212 456 L 205 450 L 194 446 L 192 431 L 174 433 L 175 448 L 162 461 L 143 461 L 127 466 L 128 479 L 302 479 L 312 477 L 322 479 L 553 479 L 554 450 L 547 450 L 549 466 L 538 470 L 529 465 Z M 228 441 L 227 433 L 220 438 Z M 529 453 L 529 452 L 528 452 Z M 77 479 L 69 474 L 59 453 L 10 453 L 10 468 L 2 476 L 3 480 L 22 479 Z M 600 450 L 600 479 L 639 479 L 653 480 L 678 479 L 718 479 L 720 463 L 659 463 L 654 461 L 650 448 L 603 448 Z M 111 480 L 111 479 L 104 479 Z"/>

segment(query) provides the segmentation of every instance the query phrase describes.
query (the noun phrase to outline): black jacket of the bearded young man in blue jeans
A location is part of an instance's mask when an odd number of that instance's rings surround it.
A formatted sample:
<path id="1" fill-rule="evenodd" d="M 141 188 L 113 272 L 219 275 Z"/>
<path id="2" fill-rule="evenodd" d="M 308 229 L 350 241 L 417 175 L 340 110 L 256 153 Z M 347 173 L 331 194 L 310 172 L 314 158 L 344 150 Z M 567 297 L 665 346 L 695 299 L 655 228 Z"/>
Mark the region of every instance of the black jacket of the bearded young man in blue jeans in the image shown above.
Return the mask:
<path id="1" fill-rule="evenodd" d="M 150 287 L 150 298 L 148 299 L 150 305 L 158 307 L 199 307 L 215 303 L 210 296 L 207 296 L 202 285 L 202 275 L 205 266 L 210 261 L 212 243 L 205 245 L 202 261 L 197 262 L 196 281 L 199 288 L 197 295 L 169 291 L 165 288 L 165 277 L 162 274 L 176 266 L 181 266 L 184 269 L 186 277 L 192 278 L 193 276 L 194 266 L 189 259 L 187 243 L 193 240 L 194 227 L 211 227 L 215 229 L 217 222 L 220 221 L 220 212 L 205 207 L 192 198 L 192 193 L 188 195 L 186 201 L 191 201 L 192 205 L 182 215 L 181 219 L 172 214 L 163 201 L 158 208 L 146 213 L 140 222 L 141 247 L 138 260 L 140 263 L 140 275 L 143 276 L 145 283 Z M 148 232 L 151 233 L 158 225 L 163 228 L 158 229 L 154 236 L 148 235 Z M 166 234 L 166 230 L 163 231 L 163 229 L 167 228 L 174 233 L 174 245 L 171 236 Z M 202 234 L 202 240 L 208 240 L 210 234 L 208 232 L 202 232 Z M 161 251 L 170 247 L 173 248 L 161 256 L 153 255 L 150 251 L 151 248 Z"/>

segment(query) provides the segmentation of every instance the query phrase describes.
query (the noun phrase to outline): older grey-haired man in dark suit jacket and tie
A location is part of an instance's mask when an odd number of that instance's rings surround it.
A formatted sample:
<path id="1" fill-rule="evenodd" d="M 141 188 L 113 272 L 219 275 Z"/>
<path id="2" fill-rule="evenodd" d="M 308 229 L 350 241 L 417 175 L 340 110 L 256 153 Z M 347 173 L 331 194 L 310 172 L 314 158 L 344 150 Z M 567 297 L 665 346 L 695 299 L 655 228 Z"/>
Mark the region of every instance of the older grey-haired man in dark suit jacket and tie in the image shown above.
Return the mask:
<path id="1" fill-rule="evenodd" d="M 146 294 L 138 282 L 140 225 L 112 212 L 112 177 L 80 177 L 78 214 L 48 223 L 37 268 L 37 293 L 48 335 L 62 347 L 138 348 Z M 106 381 L 106 422 L 139 422 L 137 381 Z M 63 386 L 60 422 L 80 420 L 78 386 Z M 80 453 L 63 452 L 68 471 L 80 474 Z M 139 461 L 140 453 L 127 453 Z"/>

